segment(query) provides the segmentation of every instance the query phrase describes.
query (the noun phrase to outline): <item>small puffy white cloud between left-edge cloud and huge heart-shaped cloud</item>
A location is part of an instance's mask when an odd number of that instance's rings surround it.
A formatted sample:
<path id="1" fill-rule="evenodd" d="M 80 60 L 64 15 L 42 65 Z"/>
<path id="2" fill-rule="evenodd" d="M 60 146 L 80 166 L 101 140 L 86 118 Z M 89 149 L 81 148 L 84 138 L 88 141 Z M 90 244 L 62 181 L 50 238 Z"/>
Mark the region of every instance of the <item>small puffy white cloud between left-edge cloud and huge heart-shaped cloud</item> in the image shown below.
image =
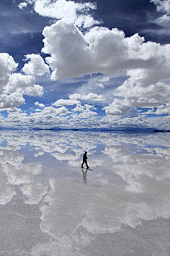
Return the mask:
<path id="1" fill-rule="evenodd" d="M 28 63 L 26 63 L 22 68 L 22 71 L 26 73 L 26 75 L 42 76 L 45 73 L 50 73 L 49 66 L 45 64 L 43 58 L 40 55 L 28 54 L 25 55 L 25 58 L 25 60 L 29 60 Z"/>

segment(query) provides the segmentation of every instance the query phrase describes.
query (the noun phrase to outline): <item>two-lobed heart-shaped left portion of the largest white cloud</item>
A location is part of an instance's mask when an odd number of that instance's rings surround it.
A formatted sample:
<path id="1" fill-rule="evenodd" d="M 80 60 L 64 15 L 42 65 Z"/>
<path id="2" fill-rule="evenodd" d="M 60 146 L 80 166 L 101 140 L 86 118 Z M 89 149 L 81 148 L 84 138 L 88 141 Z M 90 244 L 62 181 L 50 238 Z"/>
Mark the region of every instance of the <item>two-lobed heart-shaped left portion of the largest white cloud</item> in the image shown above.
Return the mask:
<path id="1" fill-rule="evenodd" d="M 72 23 L 57 21 L 43 31 L 42 51 L 52 68 L 52 80 L 89 73 L 114 73 L 123 68 L 128 55 L 125 34 L 114 28 L 92 28 L 84 36 Z M 86 43 L 88 46 L 86 46 Z"/>

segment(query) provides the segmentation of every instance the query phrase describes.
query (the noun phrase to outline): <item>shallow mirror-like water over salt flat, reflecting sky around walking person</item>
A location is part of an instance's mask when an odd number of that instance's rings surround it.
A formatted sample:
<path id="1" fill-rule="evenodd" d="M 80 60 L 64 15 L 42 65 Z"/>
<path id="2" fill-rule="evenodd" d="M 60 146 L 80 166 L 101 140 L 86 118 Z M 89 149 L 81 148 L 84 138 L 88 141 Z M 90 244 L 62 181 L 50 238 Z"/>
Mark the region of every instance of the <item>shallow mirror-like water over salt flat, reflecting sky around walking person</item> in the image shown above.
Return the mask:
<path id="1" fill-rule="evenodd" d="M 170 134 L 0 138 L 1 256 L 170 255 Z"/>

